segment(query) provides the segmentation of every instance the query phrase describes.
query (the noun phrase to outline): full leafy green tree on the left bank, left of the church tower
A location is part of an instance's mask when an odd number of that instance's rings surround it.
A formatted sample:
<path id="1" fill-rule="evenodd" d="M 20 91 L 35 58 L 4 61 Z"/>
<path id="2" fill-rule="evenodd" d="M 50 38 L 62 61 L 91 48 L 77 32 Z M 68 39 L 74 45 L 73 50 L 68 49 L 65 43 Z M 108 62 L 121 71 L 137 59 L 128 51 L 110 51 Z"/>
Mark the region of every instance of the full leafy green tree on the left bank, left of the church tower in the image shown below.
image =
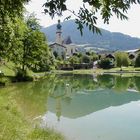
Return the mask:
<path id="1" fill-rule="evenodd" d="M 33 14 L 25 21 L 17 19 L 14 24 L 15 35 L 8 58 L 20 72 L 26 73 L 27 69 L 49 70 L 49 65 L 53 63 L 46 37 L 39 27 Z"/>

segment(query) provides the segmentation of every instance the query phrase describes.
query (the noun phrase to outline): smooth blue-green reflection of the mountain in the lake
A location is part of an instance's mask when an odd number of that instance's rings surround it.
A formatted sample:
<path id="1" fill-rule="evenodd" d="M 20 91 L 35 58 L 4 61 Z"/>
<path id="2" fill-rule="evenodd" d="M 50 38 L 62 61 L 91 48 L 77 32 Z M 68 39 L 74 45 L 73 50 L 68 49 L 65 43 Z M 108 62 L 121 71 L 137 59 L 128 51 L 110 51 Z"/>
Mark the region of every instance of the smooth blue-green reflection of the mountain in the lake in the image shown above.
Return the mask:
<path id="1" fill-rule="evenodd" d="M 85 91 L 86 94 L 72 96 L 70 104 L 67 104 L 65 98 L 48 100 L 48 109 L 53 113 L 59 112 L 67 118 L 79 118 L 90 113 L 103 110 L 110 106 L 120 106 L 131 101 L 140 100 L 140 94 L 133 92 L 124 92 L 117 94 L 113 90 L 99 90 L 91 93 Z M 56 107 L 56 105 L 57 107 Z"/>

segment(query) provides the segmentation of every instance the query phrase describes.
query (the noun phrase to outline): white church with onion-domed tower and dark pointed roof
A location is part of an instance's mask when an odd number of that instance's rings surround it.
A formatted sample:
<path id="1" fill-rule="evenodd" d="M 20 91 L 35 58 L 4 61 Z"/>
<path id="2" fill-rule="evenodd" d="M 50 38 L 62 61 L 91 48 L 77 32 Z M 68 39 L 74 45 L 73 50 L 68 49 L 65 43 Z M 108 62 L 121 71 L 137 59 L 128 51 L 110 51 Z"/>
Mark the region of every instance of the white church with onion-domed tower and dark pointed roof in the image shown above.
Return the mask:
<path id="1" fill-rule="evenodd" d="M 56 26 L 56 40 L 54 43 L 50 44 L 49 47 L 55 57 L 60 57 L 62 59 L 67 59 L 77 52 L 77 46 L 72 44 L 70 37 L 65 40 L 62 39 L 62 26 L 60 20 Z"/>

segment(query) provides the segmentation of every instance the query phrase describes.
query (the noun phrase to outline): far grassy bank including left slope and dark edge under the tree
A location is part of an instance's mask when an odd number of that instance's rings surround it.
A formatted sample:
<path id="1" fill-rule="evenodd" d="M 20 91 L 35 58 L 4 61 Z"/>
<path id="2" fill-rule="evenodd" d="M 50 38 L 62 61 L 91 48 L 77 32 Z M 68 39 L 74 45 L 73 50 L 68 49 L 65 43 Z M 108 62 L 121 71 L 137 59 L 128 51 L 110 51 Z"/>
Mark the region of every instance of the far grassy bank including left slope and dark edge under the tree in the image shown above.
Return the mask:
<path id="1" fill-rule="evenodd" d="M 140 68 L 134 67 L 122 67 L 121 68 L 112 68 L 112 69 L 79 69 L 79 70 L 72 70 L 72 71 L 64 71 L 64 70 L 53 70 L 51 72 L 41 72 L 41 73 L 34 73 L 32 71 L 27 72 L 27 77 L 23 78 L 20 74 L 16 77 L 14 71 L 14 65 L 12 63 L 7 63 L 6 65 L 0 66 L 0 70 L 4 73 L 4 76 L 0 76 L 0 85 L 8 85 L 13 82 L 19 81 L 35 81 L 40 78 L 45 78 L 45 75 L 50 73 L 54 74 L 65 74 L 65 73 L 72 73 L 72 74 L 123 74 L 123 75 L 137 75 L 140 76 Z"/>

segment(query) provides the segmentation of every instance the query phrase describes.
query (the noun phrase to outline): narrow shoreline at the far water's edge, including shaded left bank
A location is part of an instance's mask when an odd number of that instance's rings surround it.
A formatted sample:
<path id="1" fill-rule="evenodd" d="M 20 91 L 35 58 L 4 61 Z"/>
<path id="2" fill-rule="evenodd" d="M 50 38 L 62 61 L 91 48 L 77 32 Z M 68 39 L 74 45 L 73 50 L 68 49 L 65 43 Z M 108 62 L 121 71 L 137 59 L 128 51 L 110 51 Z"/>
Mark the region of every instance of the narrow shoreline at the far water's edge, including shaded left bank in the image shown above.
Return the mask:
<path id="1" fill-rule="evenodd" d="M 33 82 L 38 81 L 40 79 L 47 78 L 50 74 L 95 74 L 95 75 L 103 75 L 103 74 L 114 74 L 114 75 L 130 75 L 130 76 L 140 76 L 140 71 L 135 69 L 80 69 L 80 70 L 52 70 L 50 72 L 40 72 L 33 73 L 28 76 L 27 80 L 18 81 L 15 76 L 1 76 L 0 77 L 0 87 L 10 85 L 12 83 L 19 82 Z"/>

